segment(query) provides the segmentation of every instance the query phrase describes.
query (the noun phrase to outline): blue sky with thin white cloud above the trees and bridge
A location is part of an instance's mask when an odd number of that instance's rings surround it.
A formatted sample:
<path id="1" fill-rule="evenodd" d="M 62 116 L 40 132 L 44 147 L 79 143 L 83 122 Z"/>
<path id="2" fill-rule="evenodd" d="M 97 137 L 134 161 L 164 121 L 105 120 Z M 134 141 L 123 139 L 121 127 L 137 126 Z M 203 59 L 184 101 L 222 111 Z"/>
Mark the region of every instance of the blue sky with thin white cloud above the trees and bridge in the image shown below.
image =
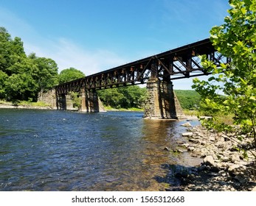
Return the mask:
<path id="1" fill-rule="evenodd" d="M 0 0 L 0 26 L 59 72 L 89 75 L 209 38 L 228 9 L 228 0 Z"/>

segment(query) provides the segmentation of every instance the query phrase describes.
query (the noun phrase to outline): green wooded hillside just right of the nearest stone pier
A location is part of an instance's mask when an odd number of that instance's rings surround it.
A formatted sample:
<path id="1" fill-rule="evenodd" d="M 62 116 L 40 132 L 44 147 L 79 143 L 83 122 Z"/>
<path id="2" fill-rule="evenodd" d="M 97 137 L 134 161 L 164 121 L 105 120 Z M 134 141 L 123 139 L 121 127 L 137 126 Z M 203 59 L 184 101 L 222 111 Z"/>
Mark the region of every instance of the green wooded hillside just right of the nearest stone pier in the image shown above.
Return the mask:
<path id="1" fill-rule="evenodd" d="M 181 107 L 185 110 L 195 110 L 200 102 L 201 96 L 195 90 L 174 90 Z"/>

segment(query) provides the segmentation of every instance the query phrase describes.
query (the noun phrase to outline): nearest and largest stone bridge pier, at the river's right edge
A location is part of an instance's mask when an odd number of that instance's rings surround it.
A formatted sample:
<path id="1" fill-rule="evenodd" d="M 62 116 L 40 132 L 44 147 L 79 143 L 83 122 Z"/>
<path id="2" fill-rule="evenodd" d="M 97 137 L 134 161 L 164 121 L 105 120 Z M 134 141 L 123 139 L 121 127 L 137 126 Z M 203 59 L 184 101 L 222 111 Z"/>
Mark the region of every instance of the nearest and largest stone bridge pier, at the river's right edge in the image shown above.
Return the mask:
<path id="1" fill-rule="evenodd" d="M 145 106 L 145 118 L 177 119 L 173 83 L 160 81 L 157 78 L 147 82 L 148 101 Z M 177 105 L 178 106 L 178 105 Z"/>

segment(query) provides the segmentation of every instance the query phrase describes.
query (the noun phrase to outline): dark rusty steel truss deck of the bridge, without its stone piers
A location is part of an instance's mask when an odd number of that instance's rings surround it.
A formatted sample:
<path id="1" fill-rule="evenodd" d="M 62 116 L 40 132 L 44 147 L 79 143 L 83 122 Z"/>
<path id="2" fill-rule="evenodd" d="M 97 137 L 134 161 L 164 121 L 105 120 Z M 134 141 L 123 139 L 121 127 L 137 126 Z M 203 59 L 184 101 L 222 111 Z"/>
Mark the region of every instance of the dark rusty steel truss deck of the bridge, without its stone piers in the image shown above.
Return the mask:
<path id="1" fill-rule="evenodd" d="M 207 69 L 201 65 L 199 55 L 207 55 L 217 67 L 221 63 L 229 63 L 214 49 L 209 38 L 181 46 L 176 49 L 155 54 L 142 60 L 120 65 L 101 71 L 81 79 L 75 79 L 55 86 L 56 94 L 79 92 L 81 90 L 100 90 L 127 85 L 144 84 L 150 78 L 163 81 L 208 75 Z"/>

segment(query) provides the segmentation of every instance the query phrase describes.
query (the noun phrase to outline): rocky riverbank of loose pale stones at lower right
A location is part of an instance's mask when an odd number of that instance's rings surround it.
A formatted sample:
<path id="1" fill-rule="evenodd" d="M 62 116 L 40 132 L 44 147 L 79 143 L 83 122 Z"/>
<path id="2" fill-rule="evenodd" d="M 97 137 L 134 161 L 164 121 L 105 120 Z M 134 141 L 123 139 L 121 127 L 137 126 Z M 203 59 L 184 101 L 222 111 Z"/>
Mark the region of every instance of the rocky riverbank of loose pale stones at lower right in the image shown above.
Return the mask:
<path id="1" fill-rule="evenodd" d="M 189 152 L 200 157 L 195 167 L 165 166 L 169 173 L 164 178 L 170 184 L 167 191 L 256 191 L 256 151 L 252 138 L 243 141 L 234 134 L 224 135 L 207 131 L 204 127 L 188 126 L 179 141 L 177 152 Z"/>

